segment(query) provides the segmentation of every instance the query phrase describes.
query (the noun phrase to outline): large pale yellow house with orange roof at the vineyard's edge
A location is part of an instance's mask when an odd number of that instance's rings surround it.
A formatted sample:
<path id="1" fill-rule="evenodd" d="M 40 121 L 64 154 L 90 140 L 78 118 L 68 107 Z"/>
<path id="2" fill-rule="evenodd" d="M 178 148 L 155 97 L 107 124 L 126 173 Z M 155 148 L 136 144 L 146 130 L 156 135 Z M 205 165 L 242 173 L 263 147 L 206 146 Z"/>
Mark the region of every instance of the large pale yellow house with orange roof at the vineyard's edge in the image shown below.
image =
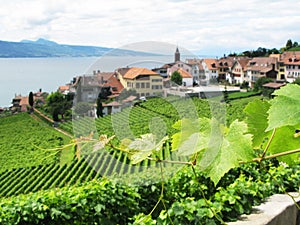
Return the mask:
<path id="1" fill-rule="evenodd" d="M 163 78 L 147 68 L 119 68 L 117 78 L 126 89 L 134 89 L 137 97 L 156 96 L 163 92 Z"/>

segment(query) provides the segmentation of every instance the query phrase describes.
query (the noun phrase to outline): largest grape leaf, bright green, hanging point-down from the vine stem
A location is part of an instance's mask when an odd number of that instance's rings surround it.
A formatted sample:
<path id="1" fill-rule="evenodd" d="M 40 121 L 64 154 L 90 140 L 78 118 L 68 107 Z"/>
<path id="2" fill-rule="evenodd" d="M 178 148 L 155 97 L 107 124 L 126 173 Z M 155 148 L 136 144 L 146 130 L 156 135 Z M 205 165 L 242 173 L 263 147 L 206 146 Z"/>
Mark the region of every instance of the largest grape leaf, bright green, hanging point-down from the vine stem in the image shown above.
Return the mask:
<path id="1" fill-rule="evenodd" d="M 231 168 L 239 166 L 240 161 L 254 157 L 252 135 L 247 134 L 245 122 L 233 121 L 229 128 L 212 123 L 216 135 L 211 137 L 208 148 L 200 161 L 201 169 L 216 185 Z"/>

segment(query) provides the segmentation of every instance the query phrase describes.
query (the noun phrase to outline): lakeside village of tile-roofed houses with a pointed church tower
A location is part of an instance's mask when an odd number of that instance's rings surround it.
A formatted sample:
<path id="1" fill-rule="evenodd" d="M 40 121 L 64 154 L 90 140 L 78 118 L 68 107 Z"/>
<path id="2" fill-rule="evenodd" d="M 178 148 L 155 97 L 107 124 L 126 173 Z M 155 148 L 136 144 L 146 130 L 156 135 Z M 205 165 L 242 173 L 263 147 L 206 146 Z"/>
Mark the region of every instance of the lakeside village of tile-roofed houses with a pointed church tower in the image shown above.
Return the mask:
<path id="1" fill-rule="evenodd" d="M 172 81 L 174 73 L 180 74 L 180 83 Z M 270 54 L 269 57 L 224 56 L 182 61 L 177 47 L 174 62 L 160 68 L 126 67 L 116 68 L 112 72 L 97 70 L 93 74 L 74 77 L 72 82 L 59 86 L 57 92 L 73 96 L 74 104 L 90 103 L 93 107 L 88 114 L 96 116 L 95 102 L 99 95 L 104 100 L 101 115 L 109 115 L 149 97 L 179 95 L 210 98 L 222 95 L 225 90 L 245 92 L 253 89 L 262 77 L 272 80 L 264 84 L 271 90 L 294 82 L 300 77 L 300 51 Z M 46 94 L 42 90 L 33 93 L 33 96 L 36 105 L 45 103 Z M 24 112 L 28 108 L 28 96 L 15 96 L 10 111 Z"/>

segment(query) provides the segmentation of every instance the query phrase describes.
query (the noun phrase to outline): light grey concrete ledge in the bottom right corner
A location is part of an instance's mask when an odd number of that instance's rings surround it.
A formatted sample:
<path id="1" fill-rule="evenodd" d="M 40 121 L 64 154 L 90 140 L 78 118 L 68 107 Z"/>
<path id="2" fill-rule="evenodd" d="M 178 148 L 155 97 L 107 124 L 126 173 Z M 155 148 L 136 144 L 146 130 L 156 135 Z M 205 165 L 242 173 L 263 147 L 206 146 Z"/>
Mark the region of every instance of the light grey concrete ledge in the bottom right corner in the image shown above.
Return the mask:
<path id="1" fill-rule="evenodd" d="M 298 196 L 299 193 L 290 193 Z M 300 198 L 296 199 L 298 204 Z M 242 215 L 238 221 L 228 225 L 299 225 L 300 210 L 288 195 L 276 194 L 269 197 L 265 203 L 254 207 L 250 215 Z"/>

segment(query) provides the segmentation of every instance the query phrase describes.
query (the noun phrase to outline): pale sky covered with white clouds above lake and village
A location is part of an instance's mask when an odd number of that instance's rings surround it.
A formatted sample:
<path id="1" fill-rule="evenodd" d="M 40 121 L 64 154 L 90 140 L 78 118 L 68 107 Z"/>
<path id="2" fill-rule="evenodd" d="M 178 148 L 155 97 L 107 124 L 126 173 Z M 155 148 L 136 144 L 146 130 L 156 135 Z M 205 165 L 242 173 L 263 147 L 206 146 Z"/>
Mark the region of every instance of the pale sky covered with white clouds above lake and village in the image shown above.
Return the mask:
<path id="1" fill-rule="evenodd" d="M 223 56 L 300 42 L 299 0 L 0 0 L 0 39 L 121 48 L 143 41 Z"/>

